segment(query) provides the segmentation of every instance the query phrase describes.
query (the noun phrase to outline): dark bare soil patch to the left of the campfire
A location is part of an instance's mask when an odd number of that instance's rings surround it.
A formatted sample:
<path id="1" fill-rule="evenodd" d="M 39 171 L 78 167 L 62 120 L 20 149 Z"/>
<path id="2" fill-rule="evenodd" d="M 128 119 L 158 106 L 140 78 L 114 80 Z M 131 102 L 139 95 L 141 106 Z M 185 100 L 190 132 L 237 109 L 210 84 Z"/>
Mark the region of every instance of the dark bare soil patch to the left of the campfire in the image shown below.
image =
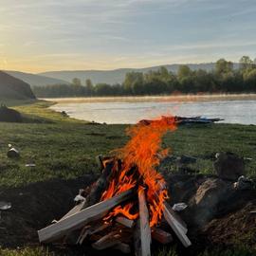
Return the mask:
<path id="1" fill-rule="evenodd" d="M 95 178 L 86 175 L 75 180 L 37 182 L 23 188 L 0 188 L 0 201 L 11 203 L 10 210 L 1 212 L 1 247 L 38 244 L 37 230 L 70 210 L 79 189 L 91 184 Z"/>

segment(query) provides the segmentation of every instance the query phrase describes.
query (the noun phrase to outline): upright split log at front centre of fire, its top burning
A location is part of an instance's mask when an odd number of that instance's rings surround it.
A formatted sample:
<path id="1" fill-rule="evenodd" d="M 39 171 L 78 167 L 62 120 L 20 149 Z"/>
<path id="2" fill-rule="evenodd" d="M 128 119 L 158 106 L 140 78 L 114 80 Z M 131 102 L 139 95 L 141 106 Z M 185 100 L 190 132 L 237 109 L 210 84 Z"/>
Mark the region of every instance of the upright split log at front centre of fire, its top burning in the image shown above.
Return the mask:
<path id="1" fill-rule="evenodd" d="M 139 209 L 139 231 L 141 241 L 141 256 L 151 255 L 151 229 L 149 224 L 149 211 L 144 189 L 138 189 L 138 209 Z"/>

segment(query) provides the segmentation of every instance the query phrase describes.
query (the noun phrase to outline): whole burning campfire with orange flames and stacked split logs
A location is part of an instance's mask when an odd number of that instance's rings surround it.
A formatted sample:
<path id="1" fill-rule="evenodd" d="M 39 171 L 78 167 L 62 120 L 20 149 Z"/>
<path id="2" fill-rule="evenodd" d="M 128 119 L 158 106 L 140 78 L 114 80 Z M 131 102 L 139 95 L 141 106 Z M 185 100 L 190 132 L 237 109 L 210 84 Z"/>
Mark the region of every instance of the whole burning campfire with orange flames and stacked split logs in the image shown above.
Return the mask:
<path id="1" fill-rule="evenodd" d="M 96 249 L 114 247 L 124 253 L 151 255 L 152 239 L 168 244 L 166 222 L 184 247 L 191 246 L 186 224 L 172 210 L 166 182 L 155 168 L 169 152 L 162 137 L 176 129 L 174 117 L 140 121 L 127 133 L 128 143 L 115 156 L 100 157 L 101 176 L 81 192 L 80 204 L 58 222 L 38 231 L 41 243 L 90 243 Z"/>

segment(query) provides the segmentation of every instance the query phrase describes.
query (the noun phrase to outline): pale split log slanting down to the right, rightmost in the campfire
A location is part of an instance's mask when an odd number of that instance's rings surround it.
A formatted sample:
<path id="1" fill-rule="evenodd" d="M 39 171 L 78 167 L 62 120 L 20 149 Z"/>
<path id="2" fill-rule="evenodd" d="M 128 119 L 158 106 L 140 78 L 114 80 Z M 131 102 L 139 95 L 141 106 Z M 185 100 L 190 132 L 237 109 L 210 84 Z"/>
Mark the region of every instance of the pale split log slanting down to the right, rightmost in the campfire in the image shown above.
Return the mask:
<path id="1" fill-rule="evenodd" d="M 174 218 L 174 215 L 172 214 L 170 208 L 171 207 L 167 203 L 164 204 L 164 218 L 166 219 L 170 227 L 174 230 L 174 233 L 176 234 L 182 245 L 184 247 L 190 247 L 192 245 L 192 242 L 186 235 L 184 229 L 181 228 L 180 223 Z"/>

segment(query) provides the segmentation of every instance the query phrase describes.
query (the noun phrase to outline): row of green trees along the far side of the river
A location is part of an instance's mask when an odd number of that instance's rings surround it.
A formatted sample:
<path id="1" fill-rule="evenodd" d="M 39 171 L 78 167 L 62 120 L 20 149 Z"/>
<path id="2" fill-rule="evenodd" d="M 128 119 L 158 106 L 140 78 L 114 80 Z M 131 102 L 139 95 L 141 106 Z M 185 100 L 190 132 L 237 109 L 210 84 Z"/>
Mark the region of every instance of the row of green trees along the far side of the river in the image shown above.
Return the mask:
<path id="1" fill-rule="evenodd" d="M 243 56 L 239 68 L 234 69 L 233 63 L 220 59 L 209 72 L 193 71 L 182 64 L 177 73 L 173 73 L 161 66 L 147 73 L 128 72 L 121 84 L 93 84 L 87 79 L 82 85 L 80 79 L 74 78 L 71 84 L 35 86 L 33 91 L 41 98 L 256 92 L 256 61 Z"/>

